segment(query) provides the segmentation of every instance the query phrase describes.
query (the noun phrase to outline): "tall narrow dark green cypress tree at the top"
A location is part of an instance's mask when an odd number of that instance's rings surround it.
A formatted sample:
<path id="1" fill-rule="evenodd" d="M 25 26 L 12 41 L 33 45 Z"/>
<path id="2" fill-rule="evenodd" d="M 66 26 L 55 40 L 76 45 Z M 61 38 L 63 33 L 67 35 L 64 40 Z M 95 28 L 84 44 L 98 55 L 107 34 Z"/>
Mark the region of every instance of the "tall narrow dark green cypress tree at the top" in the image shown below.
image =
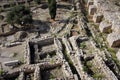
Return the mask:
<path id="1" fill-rule="evenodd" d="M 56 0 L 48 0 L 48 7 L 49 7 L 49 14 L 51 16 L 51 19 L 54 20 L 57 10 Z"/>

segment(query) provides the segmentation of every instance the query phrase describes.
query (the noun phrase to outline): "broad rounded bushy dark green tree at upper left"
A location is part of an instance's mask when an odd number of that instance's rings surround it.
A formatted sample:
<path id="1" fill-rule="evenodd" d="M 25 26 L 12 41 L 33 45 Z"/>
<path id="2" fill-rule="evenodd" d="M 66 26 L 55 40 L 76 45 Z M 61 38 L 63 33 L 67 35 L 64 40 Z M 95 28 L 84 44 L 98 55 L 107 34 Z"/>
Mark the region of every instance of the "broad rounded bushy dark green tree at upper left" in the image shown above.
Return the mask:
<path id="1" fill-rule="evenodd" d="M 6 21 L 8 24 L 11 25 L 27 25 L 31 24 L 33 19 L 30 9 L 28 7 L 18 5 L 12 8 L 12 10 L 7 14 Z"/>

